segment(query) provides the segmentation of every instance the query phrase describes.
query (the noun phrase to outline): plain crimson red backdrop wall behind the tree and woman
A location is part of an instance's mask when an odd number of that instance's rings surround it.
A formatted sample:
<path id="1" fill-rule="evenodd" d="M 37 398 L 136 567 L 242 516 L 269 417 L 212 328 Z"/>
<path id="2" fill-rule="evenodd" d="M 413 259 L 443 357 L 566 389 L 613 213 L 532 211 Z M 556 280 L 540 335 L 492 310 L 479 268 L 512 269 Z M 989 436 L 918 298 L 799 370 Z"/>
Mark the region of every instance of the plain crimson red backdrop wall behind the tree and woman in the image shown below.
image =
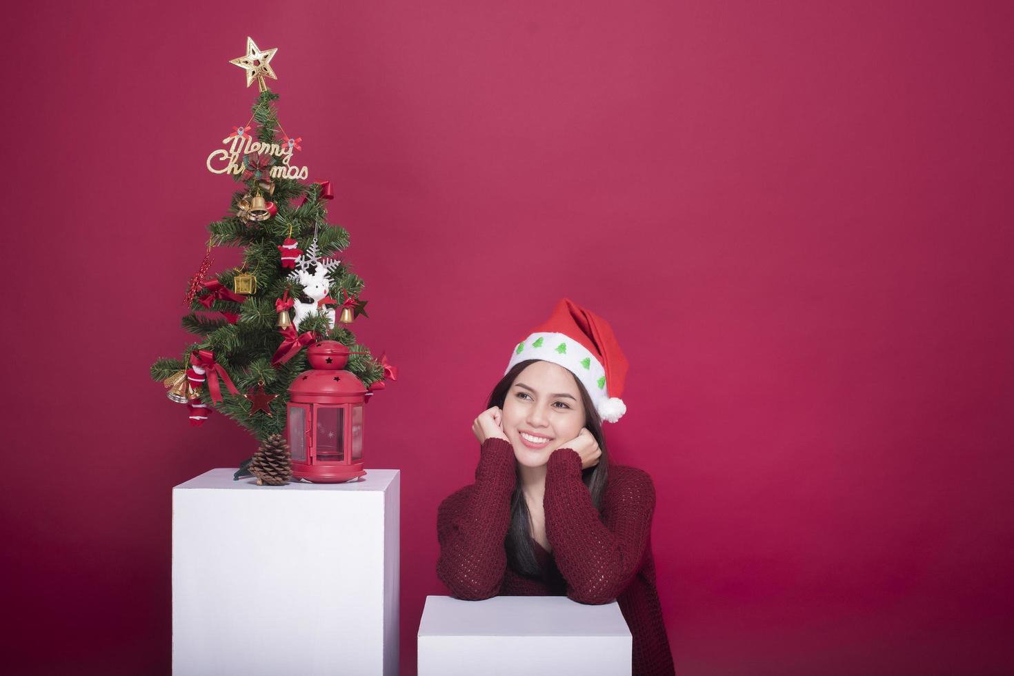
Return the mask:
<path id="1" fill-rule="evenodd" d="M 562 296 L 632 364 L 607 438 L 680 673 L 1014 670 L 1010 3 L 94 4 L 7 16 L 6 669 L 169 671 L 170 489 L 254 449 L 147 370 L 250 34 L 401 368 L 404 674 L 472 421 Z"/>

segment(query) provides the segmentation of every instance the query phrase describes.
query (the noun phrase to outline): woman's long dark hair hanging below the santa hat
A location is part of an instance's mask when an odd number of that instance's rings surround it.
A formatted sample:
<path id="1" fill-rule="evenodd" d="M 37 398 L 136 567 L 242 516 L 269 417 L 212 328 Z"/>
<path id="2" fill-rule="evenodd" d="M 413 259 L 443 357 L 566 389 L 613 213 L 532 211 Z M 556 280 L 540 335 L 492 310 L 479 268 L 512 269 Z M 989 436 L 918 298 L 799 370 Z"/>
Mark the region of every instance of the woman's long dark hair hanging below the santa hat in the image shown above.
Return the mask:
<path id="1" fill-rule="evenodd" d="M 540 360 L 529 359 L 515 364 L 514 368 L 508 371 L 500 382 L 496 384 L 493 391 L 490 392 L 490 400 L 486 404 L 486 407 L 498 406 L 503 410 L 504 401 L 507 399 L 507 392 L 510 390 L 511 385 L 514 384 L 517 374 L 537 361 Z M 573 373 L 571 375 L 574 376 Z M 574 376 L 574 382 L 577 383 L 577 389 L 581 392 L 581 402 L 584 404 L 584 427 L 595 438 L 595 441 L 598 442 L 598 448 L 602 451 L 602 455 L 598 458 L 598 464 L 581 470 L 581 480 L 588 486 L 588 492 L 591 494 L 591 503 L 597 510 L 601 505 L 602 495 L 605 493 L 605 479 L 609 471 L 608 453 L 605 450 L 605 437 L 602 436 L 602 421 L 598 417 L 598 410 L 595 409 L 594 402 L 588 396 L 588 391 L 581 384 L 581 381 L 578 380 L 577 376 Z M 542 576 L 544 571 L 539 570 L 538 561 L 535 559 L 535 552 L 531 547 L 530 519 L 528 505 L 524 502 L 524 495 L 521 493 L 521 477 L 518 475 L 514 484 L 514 494 L 511 496 L 510 528 L 507 530 L 507 537 L 504 539 L 504 547 L 507 550 L 507 565 L 519 575 L 537 578 Z"/>

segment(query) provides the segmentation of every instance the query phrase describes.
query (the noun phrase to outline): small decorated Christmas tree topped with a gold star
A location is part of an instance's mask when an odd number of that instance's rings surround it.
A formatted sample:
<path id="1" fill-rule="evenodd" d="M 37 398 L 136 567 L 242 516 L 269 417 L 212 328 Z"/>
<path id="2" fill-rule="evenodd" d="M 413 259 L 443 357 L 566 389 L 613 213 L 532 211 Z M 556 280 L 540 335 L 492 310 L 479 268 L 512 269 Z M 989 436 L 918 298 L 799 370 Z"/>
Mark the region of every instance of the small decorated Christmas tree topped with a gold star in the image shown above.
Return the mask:
<path id="1" fill-rule="evenodd" d="M 248 44 L 257 49 L 252 41 Z M 274 50 L 260 54 L 270 60 Z M 263 69 L 267 60 L 257 56 L 233 63 L 260 63 Z M 273 71 L 263 74 L 274 77 Z M 327 223 L 330 184 L 305 184 L 289 177 L 306 173 L 305 167 L 290 164 L 302 140 L 285 134 L 275 106 L 278 94 L 264 86 L 263 78 L 255 77 L 262 91 L 250 121 L 233 128 L 223 141 L 231 144 L 229 151 L 218 150 L 208 158 L 208 168 L 230 173 L 239 190 L 232 195 L 229 216 L 208 225 L 208 254 L 185 300 L 190 311 L 183 326 L 198 336 L 197 342 L 187 347 L 182 359 L 157 360 L 151 377 L 167 387 L 173 385 L 170 398 L 189 404 L 192 424 L 217 410 L 266 441 L 285 430 L 287 389 L 307 368 L 304 346 L 319 340 L 348 346 L 353 354 L 346 368 L 367 386 L 382 381 L 386 369 L 356 343 L 347 325 L 359 314 L 367 316 L 366 302 L 358 300 L 364 282 L 347 264 L 332 257 L 349 245 L 349 233 Z M 247 84 L 250 80 L 248 75 Z M 248 133 L 251 126 L 256 141 Z M 215 157 L 228 165 L 221 171 L 212 168 Z M 223 245 L 242 247 L 241 268 L 204 279 L 211 248 Z M 328 305 L 343 303 L 346 323 L 336 322 L 335 310 Z M 298 326 L 289 325 L 289 308 L 294 305 L 297 311 L 305 310 Z M 238 395 L 255 386 L 260 394 Z M 379 383 L 371 391 L 382 386 Z"/>

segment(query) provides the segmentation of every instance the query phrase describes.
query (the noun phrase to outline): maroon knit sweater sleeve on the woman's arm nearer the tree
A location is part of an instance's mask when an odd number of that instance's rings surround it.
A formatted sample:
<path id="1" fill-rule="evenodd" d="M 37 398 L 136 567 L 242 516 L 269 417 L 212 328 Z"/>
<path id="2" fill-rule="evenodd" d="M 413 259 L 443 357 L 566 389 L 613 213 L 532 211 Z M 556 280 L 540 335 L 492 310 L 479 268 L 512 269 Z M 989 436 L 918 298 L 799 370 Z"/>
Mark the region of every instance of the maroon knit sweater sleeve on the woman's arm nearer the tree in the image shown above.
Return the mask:
<path id="1" fill-rule="evenodd" d="M 476 482 L 453 493 L 437 510 L 440 556 L 437 577 L 459 599 L 478 601 L 500 593 L 514 492 L 514 450 L 491 437 L 482 446 Z"/>

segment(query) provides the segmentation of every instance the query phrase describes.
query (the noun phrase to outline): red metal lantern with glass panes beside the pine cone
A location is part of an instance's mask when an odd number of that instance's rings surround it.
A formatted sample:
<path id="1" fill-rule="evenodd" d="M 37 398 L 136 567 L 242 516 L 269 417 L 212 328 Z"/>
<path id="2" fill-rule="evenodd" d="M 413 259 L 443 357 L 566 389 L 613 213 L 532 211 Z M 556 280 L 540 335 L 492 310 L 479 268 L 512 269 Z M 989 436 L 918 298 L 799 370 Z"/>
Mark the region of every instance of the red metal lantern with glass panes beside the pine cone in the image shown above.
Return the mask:
<path id="1" fill-rule="evenodd" d="M 286 437 L 292 475 L 315 483 L 362 476 L 366 386 L 344 369 L 347 346 L 321 341 L 306 352 L 311 368 L 289 387 Z"/>

